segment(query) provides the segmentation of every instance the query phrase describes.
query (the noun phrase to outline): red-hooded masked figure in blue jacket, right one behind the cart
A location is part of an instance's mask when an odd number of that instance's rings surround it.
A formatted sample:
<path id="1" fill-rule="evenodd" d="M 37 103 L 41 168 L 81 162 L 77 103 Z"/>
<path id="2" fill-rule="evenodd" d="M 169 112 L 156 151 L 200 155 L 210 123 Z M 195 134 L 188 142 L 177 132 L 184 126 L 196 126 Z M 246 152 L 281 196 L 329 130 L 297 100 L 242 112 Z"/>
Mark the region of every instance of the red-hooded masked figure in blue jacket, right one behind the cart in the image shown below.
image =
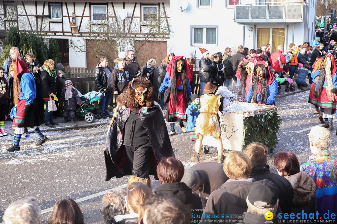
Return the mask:
<path id="1" fill-rule="evenodd" d="M 265 61 L 256 61 L 252 85 L 249 88 L 246 102 L 274 105 L 277 96 L 277 81 Z"/>

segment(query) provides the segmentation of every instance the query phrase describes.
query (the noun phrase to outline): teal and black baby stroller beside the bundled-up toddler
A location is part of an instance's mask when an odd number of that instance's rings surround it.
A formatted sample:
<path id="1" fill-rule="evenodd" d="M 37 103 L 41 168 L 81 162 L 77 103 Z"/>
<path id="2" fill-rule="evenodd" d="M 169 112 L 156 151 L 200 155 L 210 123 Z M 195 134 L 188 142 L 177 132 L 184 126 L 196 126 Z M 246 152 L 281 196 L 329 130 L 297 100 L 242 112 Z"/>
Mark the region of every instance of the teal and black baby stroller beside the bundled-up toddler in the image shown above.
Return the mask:
<path id="1" fill-rule="evenodd" d="M 98 92 L 91 91 L 85 95 L 80 96 L 81 106 L 75 111 L 75 116 L 84 118 L 84 120 L 88 123 L 93 122 L 95 118 L 100 119 L 103 116 L 103 111 L 94 106 L 89 106 L 89 104 L 100 100 L 105 89 L 106 87 L 103 87 Z"/>

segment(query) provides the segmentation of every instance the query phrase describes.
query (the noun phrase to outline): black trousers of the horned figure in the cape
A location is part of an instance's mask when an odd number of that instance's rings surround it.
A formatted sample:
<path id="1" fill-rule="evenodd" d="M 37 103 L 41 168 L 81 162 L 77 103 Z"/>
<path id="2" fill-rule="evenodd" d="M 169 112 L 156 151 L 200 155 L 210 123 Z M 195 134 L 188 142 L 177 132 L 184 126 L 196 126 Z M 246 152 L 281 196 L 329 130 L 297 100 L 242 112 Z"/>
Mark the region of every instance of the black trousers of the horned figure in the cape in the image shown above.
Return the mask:
<path id="1" fill-rule="evenodd" d="M 129 160 L 132 175 L 147 178 L 151 167 L 151 157 L 153 150 L 150 143 L 139 147 L 126 146 L 126 154 Z"/>

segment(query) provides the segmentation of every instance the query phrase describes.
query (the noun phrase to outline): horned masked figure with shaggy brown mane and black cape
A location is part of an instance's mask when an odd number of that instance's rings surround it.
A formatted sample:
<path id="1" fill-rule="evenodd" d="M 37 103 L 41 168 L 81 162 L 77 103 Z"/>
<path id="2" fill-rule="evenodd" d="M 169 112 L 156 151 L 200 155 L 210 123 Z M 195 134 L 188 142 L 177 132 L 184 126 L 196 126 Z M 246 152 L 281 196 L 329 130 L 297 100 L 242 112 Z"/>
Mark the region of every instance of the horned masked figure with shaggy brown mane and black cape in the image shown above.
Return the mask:
<path id="1" fill-rule="evenodd" d="M 174 157 L 163 112 L 152 83 L 134 78 L 117 98 L 104 150 L 105 177 L 132 175 L 129 181 L 150 184 L 163 157 Z"/>

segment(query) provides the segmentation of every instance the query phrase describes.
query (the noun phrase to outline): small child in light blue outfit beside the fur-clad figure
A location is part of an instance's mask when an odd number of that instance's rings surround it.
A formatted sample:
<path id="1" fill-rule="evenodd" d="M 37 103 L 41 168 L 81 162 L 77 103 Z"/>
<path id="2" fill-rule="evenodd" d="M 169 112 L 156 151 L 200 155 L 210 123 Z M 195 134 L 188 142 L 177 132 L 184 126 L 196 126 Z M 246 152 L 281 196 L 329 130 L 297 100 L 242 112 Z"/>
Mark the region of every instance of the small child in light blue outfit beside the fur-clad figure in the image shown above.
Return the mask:
<path id="1" fill-rule="evenodd" d="M 196 118 L 200 114 L 200 98 L 197 94 L 192 94 L 192 103 L 187 107 L 186 115 L 188 116 L 188 122 L 186 126 L 186 131 L 190 132 L 190 140 L 195 143 L 195 122 Z"/>

